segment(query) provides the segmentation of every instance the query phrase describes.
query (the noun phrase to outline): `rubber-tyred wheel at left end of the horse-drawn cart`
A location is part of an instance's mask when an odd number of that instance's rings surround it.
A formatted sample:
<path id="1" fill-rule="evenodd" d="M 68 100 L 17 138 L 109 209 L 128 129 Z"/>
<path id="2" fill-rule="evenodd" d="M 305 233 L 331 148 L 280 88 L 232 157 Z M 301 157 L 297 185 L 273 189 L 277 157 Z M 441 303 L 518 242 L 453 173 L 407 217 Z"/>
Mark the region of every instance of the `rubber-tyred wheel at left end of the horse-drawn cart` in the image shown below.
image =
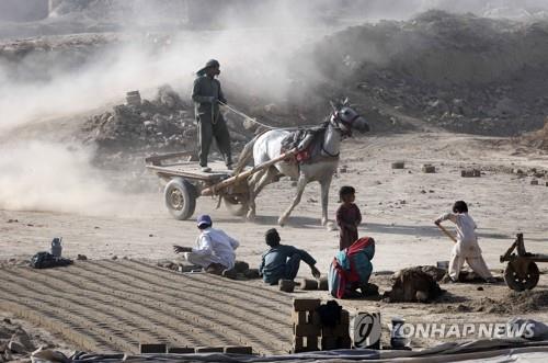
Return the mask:
<path id="1" fill-rule="evenodd" d="M 165 206 L 175 219 L 189 219 L 196 208 L 196 190 L 183 178 L 173 178 L 163 192 Z"/>

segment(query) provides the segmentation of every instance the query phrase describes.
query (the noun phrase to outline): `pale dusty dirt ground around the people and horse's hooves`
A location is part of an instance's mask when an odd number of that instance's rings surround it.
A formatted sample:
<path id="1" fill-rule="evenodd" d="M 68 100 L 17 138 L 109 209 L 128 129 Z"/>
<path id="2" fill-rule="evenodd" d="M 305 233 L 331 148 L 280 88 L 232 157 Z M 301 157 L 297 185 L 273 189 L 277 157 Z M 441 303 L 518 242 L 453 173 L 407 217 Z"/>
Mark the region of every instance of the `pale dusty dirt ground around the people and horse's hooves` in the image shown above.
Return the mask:
<path id="1" fill-rule="evenodd" d="M 548 180 L 539 179 L 539 185 L 532 185 L 529 177 L 522 178 L 512 173 L 517 168 L 548 169 L 548 154 L 520 146 L 507 138 L 430 132 L 365 136 L 346 140 L 343 145 L 341 167 L 345 167 L 346 171 L 341 171 L 333 181 L 330 214 L 333 215 L 336 208 L 338 189 L 343 184 L 354 185 L 357 189 L 356 203 L 365 216 L 359 234 L 374 237 L 377 243 L 373 263 L 374 271 L 380 273 L 372 282 L 379 284 L 381 290 L 388 287 L 388 277 L 383 274 L 384 271 L 448 260 L 450 241 L 435 228 L 432 220 L 441 213 L 448 212 L 456 200 L 469 203 L 470 214 L 479 226 L 483 256 L 494 273 L 500 274 L 504 268 L 499 262 L 499 256 L 504 253 L 518 231 L 524 234 L 527 250 L 548 252 L 548 186 L 545 185 Z M 404 160 L 406 169 L 392 170 L 390 162 L 397 160 Z M 434 165 L 437 172 L 422 173 L 423 163 Z M 482 170 L 481 178 L 460 177 L 463 168 L 471 167 Z M 238 258 L 255 265 L 265 249 L 263 234 L 276 225 L 277 216 L 288 205 L 293 191 L 289 180 L 282 180 L 266 188 L 258 201 L 259 217 L 254 223 L 233 217 L 222 207 L 215 209 L 216 201 L 205 197 L 198 200 L 196 214 L 209 213 L 216 227 L 240 240 Z M 320 270 L 327 273 L 336 250 L 338 232 L 319 225 L 318 201 L 319 185 L 311 184 L 302 203 L 295 209 L 289 225 L 279 228 L 279 231 L 283 242 L 307 249 L 318 260 Z M 80 253 L 91 260 L 105 260 L 114 256 L 152 261 L 174 259 L 173 243 L 194 243 L 197 235 L 194 222 L 172 219 L 162 205 L 160 189 L 158 193 L 121 196 L 112 203 L 118 206 L 117 211 L 123 206 L 122 209 L 126 212 L 93 215 L 93 211 L 90 211 L 89 215 L 76 215 L 0 211 L 0 243 L 3 247 L 0 250 L 3 264 L 1 273 L 4 277 L 13 276 L 5 281 L 19 285 L 20 279 L 26 279 L 24 276 L 30 272 L 19 276 L 12 269 L 24 264 L 22 261 L 36 251 L 46 250 L 55 236 L 64 238 L 66 257 L 76 258 Z M 117 270 L 129 262 L 99 262 L 110 263 L 119 273 Z M 544 266 L 540 264 L 539 268 Z M 308 269 L 304 266 L 300 274 L 309 275 Z M 36 281 L 46 279 L 36 277 Z M 169 279 L 172 284 L 174 277 Z M 82 281 L 78 288 L 87 293 L 94 291 L 95 285 L 96 281 L 89 284 Z M 541 275 L 535 293 L 541 294 L 547 285 L 548 280 Z M 429 305 L 372 300 L 344 300 L 342 304 L 353 314 L 378 310 L 386 322 L 393 316 L 401 316 L 410 322 L 505 322 L 517 315 L 539 320 L 548 318 L 548 305 L 544 305 L 543 299 L 538 305 L 524 309 L 523 314 L 520 309 L 493 308 L 516 302 L 515 297 L 509 295 L 510 290 L 504 284 L 450 284 L 442 287 L 448 293 Z M 274 287 L 266 290 L 269 293 L 265 296 L 278 294 Z M 293 296 L 307 295 L 329 298 L 324 292 L 306 295 L 295 293 Z M 5 296 L 11 296 L 12 302 L 23 298 L 16 294 L 11 295 L 10 288 L 4 288 L 2 296 L 4 299 Z M 290 294 L 281 296 L 285 298 L 285 302 L 279 298 L 282 305 L 290 302 Z M 201 310 L 197 306 L 193 308 L 196 313 Z M 247 317 L 246 314 L 250 317 L 254 314 L 247 311 L 242 313 L 243 318 Z M 221 326 L 231 329 L 233 324 L 233 320 L 222 320 Z M 130 341 L 127 338 L 127 342 Z M 210 338 L 207 338 L 198 343 L 209 341 Z M 425 347 L 435 342 L 415 341 L 413 344 Z"/>

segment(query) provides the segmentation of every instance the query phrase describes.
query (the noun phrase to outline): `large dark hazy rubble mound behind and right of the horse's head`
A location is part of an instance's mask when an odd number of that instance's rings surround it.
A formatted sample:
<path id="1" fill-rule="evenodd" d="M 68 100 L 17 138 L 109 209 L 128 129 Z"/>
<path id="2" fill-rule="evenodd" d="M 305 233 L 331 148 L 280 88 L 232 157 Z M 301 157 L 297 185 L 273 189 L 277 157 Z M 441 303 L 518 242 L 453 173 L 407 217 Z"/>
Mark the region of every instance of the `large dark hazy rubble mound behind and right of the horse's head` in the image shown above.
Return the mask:
<path id="1" fill-rule="evenodd" d="M 352 26 L 307 49 L 307 69 L 447 129 L 513 136 L 548 107 L 548 21 L 429 11 Z M 318 75 L 308 75 L 318 77 Z"/>

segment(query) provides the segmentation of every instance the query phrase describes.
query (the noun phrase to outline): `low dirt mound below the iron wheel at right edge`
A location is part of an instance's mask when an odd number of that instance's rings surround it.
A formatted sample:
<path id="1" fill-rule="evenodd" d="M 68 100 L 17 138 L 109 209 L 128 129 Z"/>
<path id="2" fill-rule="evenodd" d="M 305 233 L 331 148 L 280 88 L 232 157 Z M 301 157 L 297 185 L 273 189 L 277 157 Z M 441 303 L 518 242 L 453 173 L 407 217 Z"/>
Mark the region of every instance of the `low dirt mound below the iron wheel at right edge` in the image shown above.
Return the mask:
<path id="1" fill-rule="evenodd" d="M 548 308 L 547 291 L 525 291 L 522 293 L 509 292 L 500 300 L 484 297 L 468 306 L 471 311 L 484 311 L 490 314 L 525 314 Z"/>

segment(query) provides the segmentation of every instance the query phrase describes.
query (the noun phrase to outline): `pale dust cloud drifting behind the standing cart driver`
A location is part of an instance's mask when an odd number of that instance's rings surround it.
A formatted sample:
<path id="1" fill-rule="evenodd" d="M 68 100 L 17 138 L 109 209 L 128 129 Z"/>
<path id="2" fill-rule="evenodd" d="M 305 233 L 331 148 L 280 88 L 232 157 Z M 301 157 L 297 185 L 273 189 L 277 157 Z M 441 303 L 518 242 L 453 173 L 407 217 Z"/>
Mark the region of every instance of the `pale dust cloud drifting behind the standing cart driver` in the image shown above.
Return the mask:
<path id="1" fill-rule="evenodd" d="M 299 5 L 289 1 L 267 3 L 246 14 L 252 20 L 227 11 L 218 18 L 220 25 L 210 30 L 170 29 L 170 35 L 162 36 L 156 34 L 161 29 L 148 32 L 128 25 L 126 20 L 118 24 L 126 27 L 119 33 L 126 38 L 92 55 L 79 55 L 75 47 L 60 53 L 62 61 L 48 53 L 28 53 L 16 63 L 0 63 L 0 139 L 9 141 L 0 144 L 0 208 L 111 213 L 116 200 L 124 197 L 111 192 L 90 166 L 92 150 L 45 143 L 46 137 L 20 140 L 12 132 L 22 126 L 67 116 L 78 123 L 78 114 L 119 102 L 127 91 L 138 89 L 147 97 L 163 83 L 172 84 L 189 101 L 194 73 L 209 58 L 220 61 L 220 79 L 229 102 L 237 93 L 240 99 L 265 103 L 307 102 L 319 80 L 309 78 L 306 84 L 296 84 L 292 79 L 295 69 L 313 63 L 296 58 L 295 52 L 347 25 L 401 19 L 436 7 L 484 12 L 541 5 L 533 1 L 459 1 L 456 9 L 455 1 L 443 0 L 368 1 L 366 5 L 363 1 L 326 0 Z M 147 13 L 151 11 L 146 9 Z M 73 14 L 66 16 L 75 19 Z M 138 23 L 142 26 L 147 19 L 139 18 Z M 61 20 L 62 15 L 56 15 L 47 24 L 53 26 Z M 83 31 L 75 29 L 73 33 Z M 374 50 L 367 52 L 369 58 L 375 57 L 370 54 Z M 308 69 L 307 75 L 315 72 Z M 65 140 L 71 138 L 70 132 L 59 128 L 55 134 Z"/>

